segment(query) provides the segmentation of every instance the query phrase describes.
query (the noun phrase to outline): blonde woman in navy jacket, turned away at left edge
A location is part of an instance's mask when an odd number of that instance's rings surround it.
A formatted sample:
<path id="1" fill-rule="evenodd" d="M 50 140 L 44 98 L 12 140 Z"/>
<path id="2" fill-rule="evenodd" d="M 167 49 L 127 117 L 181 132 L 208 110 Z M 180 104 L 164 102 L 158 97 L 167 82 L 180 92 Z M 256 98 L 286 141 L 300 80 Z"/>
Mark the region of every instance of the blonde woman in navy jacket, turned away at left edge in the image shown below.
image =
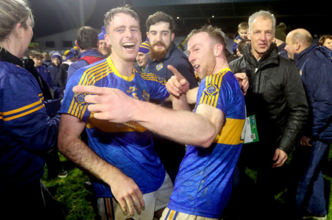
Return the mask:
<path id="1" fill-rule="evenodd" d="M 52 113 L 21 57 L 33 36 L 26 0 L 0 1 L 0 207 L 3 219 L 64 219 L 41 183 L 43 155 L 54 145 L 59 115 Z"/>

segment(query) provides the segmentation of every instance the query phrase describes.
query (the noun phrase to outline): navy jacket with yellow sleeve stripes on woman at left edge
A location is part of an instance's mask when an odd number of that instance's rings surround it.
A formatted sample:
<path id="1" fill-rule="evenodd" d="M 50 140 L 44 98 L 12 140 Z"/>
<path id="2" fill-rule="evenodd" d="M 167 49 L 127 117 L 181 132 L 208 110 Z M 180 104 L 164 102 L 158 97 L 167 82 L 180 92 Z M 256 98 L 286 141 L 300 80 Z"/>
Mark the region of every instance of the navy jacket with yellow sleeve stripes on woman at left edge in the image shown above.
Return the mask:
<path id="1" fill-rule="evenodd" d="M 60 100 L 45 102 L 35 77 L 22 66 L 11 53 L 0 52 L 0 193 L 40 179 L 43 154 L 58 135 Z"/>

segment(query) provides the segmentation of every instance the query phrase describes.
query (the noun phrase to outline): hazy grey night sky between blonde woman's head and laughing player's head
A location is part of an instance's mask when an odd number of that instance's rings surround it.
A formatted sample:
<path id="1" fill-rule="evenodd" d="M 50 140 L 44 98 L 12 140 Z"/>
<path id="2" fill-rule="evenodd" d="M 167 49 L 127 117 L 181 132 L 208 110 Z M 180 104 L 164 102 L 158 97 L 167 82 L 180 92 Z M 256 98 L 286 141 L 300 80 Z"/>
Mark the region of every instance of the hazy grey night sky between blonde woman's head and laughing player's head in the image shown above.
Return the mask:
<path id="1" fill-rule="evenodd" d="M 83 16 L 80 12 L 83 3 Z M 35 19 L 34 39 L 79 28 L 84 25 L 101 29 L 104 14 L 123 1 L 109 0 L 29 0 Z M 81 17 L 84 17 L 81 20 Z"/>

